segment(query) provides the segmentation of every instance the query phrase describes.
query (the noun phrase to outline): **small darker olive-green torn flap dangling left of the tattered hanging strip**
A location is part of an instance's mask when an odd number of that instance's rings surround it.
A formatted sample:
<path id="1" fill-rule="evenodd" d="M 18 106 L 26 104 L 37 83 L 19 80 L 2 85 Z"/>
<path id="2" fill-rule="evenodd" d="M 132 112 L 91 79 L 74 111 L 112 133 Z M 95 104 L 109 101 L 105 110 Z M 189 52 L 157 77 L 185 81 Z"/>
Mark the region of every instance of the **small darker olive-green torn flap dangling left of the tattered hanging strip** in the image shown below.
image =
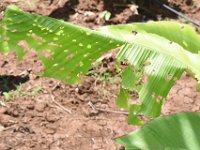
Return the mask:
<path id="1" fill-rule="evenodd" d="M 128 108 L 129 93 L 126 89 L 121 88 L 116 99 L 116 104 L 120 108 Z"/>

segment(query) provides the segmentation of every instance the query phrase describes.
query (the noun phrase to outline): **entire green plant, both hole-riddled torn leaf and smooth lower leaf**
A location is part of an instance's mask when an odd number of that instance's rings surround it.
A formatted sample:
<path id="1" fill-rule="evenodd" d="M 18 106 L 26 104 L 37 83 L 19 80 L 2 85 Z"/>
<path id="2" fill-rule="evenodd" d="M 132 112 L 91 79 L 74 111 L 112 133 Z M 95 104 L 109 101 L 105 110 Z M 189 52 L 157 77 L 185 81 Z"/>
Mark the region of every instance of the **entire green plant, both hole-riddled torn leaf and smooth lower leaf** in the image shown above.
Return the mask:
<path id="1" fill-rule="evenodd" d="M 0 22 L 2 53 L 16 51 L 21 59 L 34 49 L 45 66 L 41 75 L 68 84 L 79 82 L 92 62 L 120 47 L 117 59 L 129 66 L 122 74 L 116 103 L 130 111 L 129 123 L 139 125 L 143 122 L 138 115 L 160 115 L 167 94 L 183 72 L 192 74 L 199 83 L 199 43 L 200 36 L 193 27 L 168 21 L 90 30 L 10 6 Z M 139 103 L 128 103 L 129 91 L 138 93 Z M 131 150 L 199 150 L 199 124 L 198 112 L 158 117 L 116 141 Z"/>

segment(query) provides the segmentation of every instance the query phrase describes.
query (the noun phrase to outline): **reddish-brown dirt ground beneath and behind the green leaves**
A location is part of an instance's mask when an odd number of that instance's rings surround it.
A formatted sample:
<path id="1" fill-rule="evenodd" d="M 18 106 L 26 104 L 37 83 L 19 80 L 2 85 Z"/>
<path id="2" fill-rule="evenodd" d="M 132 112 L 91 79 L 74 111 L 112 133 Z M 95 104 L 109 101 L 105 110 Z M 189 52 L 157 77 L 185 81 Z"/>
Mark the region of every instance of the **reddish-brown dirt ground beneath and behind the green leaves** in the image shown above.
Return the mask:
<path id="1" fill-rule="evenodd" d="M 163 2 L 198 21 L 200 0 Z M 0 10 L 9 4 L 89 28 L 179 19 L 153 1 L 137 0 L 132 4 L 128 0 L 1 0 Z M 101 17 L 104 10 L 112 14 L 108 21 Z M 128 125 L 125 115 L 95 111 L 88 105 L 92 102 L 98 108 L 119 111 L 115 105 L 118 77 L 110 78 L 116 76 L 113 56 L 93 69 L 110 76 L 90 75 L 74 86 L 37 76 L 43 66 L 34 52 L 19 62 L 15 53 L 0 55 L 0 59 L 0 150 L 123 150 L 113 139 L 139 128 Z M 162 115 L 200 111 L 200 93 L 195 86 L 196 80 L 184 74 L 171 90 Z M 10 95 L 2 94 L 9 91 Z"/>

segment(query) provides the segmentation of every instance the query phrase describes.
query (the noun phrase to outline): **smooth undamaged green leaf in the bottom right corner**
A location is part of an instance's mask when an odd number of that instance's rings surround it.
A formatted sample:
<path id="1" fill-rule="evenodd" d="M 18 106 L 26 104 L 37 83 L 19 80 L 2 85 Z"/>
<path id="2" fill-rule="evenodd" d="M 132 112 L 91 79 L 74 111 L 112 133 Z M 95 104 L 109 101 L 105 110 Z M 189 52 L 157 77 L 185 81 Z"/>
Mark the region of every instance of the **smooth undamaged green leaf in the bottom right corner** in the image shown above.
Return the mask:
<path id="1" fill-rule="evenodd" d="M 116 139 L 127 150 L 199 150 L 200 113 L 160 117 L 139 130 Z"/>

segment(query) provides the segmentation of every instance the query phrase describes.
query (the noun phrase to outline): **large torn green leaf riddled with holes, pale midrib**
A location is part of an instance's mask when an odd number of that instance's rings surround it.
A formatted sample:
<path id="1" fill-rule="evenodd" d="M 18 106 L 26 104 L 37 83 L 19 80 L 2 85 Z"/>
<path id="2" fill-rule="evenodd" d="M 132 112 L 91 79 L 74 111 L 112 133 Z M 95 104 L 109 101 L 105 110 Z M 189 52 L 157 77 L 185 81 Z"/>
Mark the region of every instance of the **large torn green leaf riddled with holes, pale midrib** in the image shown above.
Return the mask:
<path id="1" fill-rule="evenodd" d="M 191 71 L 200 80 L 200 55 L 194 51 L 199 47 L 197 44 L 192 47 L 191 44 L 198 42 L 199 35 L 186 25 L 183 30 L 180 28 L 183 24 L 166 23 L 175 26 L 177 31 L 170 26 L 169 32 L 157 32 L 157 28 L 165 27 L 163 22 L 158 22 L 155 27 L 152 24 L 149 33 L 146 33 L 148 28 L 143 24 L 134 27 L 141 33 L 130 32 L 134 25 L 107 26 L 100 31 L 93 31 L 10 7 L 0 23 L 0 51 L 16 51 L 18 57 L 22 58 L 34 49 L 44 64 L 43 76 L 72 84 L 77 83 L 80 76 L 87 73 L 91 63 L 102 54 L 123 45 L 118 60 L 128 60 L 134 67 L 135 77 L 128 78 L 131 71 L 126 70 L 122 87 L 135 90 L 132 82 L 141 81 L 141 86 L 136 86 L 141 103 L 140 112 L 155 117 L 159 116 L 170 88 L 183 71 Z M 171 36 L 170 32 L 173 32 Z M 183 38 L 180 34 L 188 34 L 189 38 Z M 135 81 L 131 81 L 134 78 Z"/>

